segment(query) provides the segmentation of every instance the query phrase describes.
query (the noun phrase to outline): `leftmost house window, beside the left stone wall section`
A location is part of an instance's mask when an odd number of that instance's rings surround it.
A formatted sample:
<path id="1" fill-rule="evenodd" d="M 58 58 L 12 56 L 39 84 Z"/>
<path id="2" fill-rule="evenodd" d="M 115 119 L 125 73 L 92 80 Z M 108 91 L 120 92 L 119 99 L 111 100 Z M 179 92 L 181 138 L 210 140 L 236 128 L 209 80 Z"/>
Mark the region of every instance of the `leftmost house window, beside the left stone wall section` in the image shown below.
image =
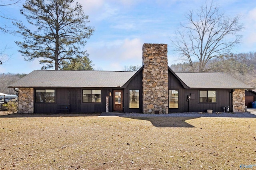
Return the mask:
<path id="1" fill-rule="evenodd" d="M 55 90 L 38 89 L 36 90 L 36 103 L 54 103 Z"/>

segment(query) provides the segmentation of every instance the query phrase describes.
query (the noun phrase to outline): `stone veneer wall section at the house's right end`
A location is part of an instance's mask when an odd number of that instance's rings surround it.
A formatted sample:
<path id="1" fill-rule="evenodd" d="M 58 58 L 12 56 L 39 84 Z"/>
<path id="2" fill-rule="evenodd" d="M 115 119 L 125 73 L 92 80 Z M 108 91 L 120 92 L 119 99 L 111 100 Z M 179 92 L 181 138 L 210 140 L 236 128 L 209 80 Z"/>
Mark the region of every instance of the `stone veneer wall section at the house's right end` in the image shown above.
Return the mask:
<path id="1" fill-rule="evenodd" d="M 233 111 L 245 111 L 245 92 L 242 89 L 235 89 L 233 92 Z"/>

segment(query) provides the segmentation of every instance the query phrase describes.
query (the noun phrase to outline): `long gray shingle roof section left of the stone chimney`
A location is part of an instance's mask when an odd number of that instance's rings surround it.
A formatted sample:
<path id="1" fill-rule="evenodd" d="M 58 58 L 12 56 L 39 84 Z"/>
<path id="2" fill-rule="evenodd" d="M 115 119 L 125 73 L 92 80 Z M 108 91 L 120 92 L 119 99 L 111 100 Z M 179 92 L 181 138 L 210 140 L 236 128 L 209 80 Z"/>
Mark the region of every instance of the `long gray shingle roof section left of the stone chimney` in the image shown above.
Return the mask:
<path id="1" fill-rule="evenodd" d="M 34 70 L 9 87 L 122 87 L 136 72 Z"/>

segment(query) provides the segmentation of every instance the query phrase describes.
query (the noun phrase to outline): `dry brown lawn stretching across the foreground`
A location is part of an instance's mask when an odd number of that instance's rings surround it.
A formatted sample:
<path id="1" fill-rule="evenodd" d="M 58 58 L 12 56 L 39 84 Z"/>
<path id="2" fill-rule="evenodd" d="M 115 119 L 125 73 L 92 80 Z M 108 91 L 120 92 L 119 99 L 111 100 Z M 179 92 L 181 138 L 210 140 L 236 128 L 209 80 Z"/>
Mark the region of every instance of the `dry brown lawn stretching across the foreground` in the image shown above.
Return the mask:
<path id="1" fill-rule="evenodd" d="M 240 164 L 256 164 L 255 118 L 0 116 L 1 169 L 229 170 Z"/>

